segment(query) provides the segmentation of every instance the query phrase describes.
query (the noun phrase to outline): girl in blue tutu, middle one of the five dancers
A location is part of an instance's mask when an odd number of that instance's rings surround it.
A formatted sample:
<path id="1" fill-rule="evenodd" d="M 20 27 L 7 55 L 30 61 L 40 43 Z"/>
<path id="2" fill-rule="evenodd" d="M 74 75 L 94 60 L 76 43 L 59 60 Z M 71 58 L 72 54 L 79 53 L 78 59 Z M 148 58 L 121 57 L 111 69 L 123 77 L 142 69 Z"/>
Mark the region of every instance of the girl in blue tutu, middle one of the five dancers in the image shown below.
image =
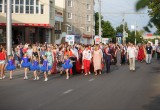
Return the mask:
<path id="1" fill-rule="evenodd" d="M 37 74 L 37 72 L 40 70 L 38 57 L 33 57 L 33 64 L 30 66 L 30 70 L 34 71 L 34 80 L 39 80 L 39 76 Z"/>

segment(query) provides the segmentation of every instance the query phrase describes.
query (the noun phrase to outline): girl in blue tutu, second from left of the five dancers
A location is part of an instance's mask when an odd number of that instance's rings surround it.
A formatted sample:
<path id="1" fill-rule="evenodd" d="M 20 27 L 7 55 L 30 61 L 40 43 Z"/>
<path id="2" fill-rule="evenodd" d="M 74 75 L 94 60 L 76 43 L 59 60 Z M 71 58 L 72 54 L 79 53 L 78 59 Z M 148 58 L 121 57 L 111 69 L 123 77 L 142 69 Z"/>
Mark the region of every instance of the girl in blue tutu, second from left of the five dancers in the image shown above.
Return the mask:
<path id="1" fill-rule="evenodd" d="M 25 73 L 24 80 L 26 80 L 28 79 L 28 76 L 27 76 L 28 68 L 31 66 L 31 63 L 29 62 L 29 58 L 27 57 L 27 53 L 24 53 L 24 56 L 21 61 L 21 66 L 24 68 L 24 73 Z"/>

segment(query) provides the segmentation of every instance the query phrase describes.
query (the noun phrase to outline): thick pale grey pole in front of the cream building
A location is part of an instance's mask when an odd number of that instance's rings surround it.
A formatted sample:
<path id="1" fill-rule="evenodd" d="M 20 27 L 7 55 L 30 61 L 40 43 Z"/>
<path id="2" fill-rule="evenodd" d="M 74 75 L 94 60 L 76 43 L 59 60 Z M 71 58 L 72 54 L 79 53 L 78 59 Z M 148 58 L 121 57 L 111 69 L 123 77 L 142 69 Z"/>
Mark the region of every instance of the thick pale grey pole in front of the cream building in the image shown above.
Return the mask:
<path id="1" fill-rule="evenodd" d="M 7 0 L 7 55 L 12 54 L 12 10 L 11 0 Z"/>

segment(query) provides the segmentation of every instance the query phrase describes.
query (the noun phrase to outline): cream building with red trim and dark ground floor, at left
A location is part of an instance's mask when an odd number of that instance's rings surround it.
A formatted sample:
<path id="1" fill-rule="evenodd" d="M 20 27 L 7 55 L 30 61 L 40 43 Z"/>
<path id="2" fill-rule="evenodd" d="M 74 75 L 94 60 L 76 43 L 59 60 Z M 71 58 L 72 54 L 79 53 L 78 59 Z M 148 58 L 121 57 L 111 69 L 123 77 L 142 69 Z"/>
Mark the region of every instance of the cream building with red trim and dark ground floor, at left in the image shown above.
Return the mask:
<path id="1" fill-rule="evenodd" d="M 0 0 L 0 43 L 6 42 L 6 3 Z M 54 0 L 12 0 L 12 41 L 51 43 L 55 25 Z"/>

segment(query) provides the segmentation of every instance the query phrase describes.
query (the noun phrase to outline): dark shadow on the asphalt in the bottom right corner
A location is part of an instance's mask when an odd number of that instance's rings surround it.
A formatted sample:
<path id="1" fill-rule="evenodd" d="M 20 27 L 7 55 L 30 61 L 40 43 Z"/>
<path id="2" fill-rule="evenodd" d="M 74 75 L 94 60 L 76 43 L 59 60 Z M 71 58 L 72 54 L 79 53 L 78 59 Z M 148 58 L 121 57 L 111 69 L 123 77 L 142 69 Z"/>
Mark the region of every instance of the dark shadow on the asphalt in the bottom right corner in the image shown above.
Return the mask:
<path id="1" fill-rule="evenodd" d="M 151 102 L 143 108 L 144 110 L 160 110 L 160 96 L 152 97 Z"/>

